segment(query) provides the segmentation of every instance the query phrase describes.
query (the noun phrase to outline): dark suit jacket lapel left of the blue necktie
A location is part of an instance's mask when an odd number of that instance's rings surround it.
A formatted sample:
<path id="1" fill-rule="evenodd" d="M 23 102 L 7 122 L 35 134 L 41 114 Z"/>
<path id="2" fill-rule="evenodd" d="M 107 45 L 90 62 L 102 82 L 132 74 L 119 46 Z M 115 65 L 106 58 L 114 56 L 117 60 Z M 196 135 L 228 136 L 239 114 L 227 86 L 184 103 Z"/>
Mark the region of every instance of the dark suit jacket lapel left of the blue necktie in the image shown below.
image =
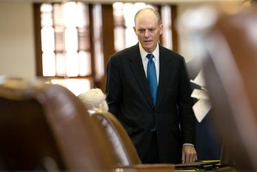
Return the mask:
<path id="1" fill-rule="evenodd" d="M 140 58 L 140 51 L 139 51 L 138 44 L 134 46 L 134 51 L 133 53 L 130 54 L 129 60 L 130 60 L 130 68 L 132 70 L 134 77 L 136 78 L 136 82 L 138 83 L 140 90 L 142 91 L 143 95 L 147 99 L 149 106 L 151 106 L 151 108 L 154 108 L 154 103 L 151 100 L 151 91 L 147 82 L 147 78 L 145 76 L 143 62 L 142 62 L 142 59 Z"/>

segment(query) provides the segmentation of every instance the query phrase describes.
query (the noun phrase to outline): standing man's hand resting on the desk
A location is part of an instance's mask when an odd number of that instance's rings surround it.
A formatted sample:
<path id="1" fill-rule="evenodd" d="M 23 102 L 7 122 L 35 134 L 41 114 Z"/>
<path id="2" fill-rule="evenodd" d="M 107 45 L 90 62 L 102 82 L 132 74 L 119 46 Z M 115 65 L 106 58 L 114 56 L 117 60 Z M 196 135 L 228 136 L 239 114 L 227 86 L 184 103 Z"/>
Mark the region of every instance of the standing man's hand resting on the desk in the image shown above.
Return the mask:
<path id="1" fill-rule="evenodd" d="M 195 147 L 191 145 L 183 145 L 182 148 L 182 163 L 189 163 L 197 161 L 197 153 Z"/>

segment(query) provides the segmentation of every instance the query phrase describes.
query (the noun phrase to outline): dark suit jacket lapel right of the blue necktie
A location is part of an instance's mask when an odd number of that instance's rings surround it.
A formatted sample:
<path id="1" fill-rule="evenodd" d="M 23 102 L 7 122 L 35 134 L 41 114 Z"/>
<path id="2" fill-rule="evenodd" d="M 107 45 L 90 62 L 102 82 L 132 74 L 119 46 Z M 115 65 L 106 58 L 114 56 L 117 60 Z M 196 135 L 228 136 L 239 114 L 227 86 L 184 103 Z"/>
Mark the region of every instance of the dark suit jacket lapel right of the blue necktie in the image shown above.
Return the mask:
<path id="1" fill-rule="evenodd" d="M 160 46 L 160 45 L 159 45 Z M 169 71 L 171 65 L 169 65 L 169 60 L 166 54 L 164 54 L 162 47 L 160 46 L 160 73 L 159 73 L 159 83 L 158 83 L 158 95 L 156 100 L 156 109 L 160 105 L 160 100 L 162 99 L 165 89 L 168 86 L 169 82 Z"/>

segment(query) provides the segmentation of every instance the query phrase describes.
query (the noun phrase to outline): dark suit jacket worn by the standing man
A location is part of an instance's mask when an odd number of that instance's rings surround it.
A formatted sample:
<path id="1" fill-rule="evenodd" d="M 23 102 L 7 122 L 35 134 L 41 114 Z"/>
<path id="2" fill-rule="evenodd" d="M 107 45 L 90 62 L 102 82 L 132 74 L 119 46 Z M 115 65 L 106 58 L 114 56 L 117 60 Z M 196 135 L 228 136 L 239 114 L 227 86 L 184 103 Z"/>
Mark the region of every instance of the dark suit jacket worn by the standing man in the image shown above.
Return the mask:
<path id="1" fill-rule="evenodd" d="M 139 46 L 110 57 L 106 93 L 110 112 L 127 130 L 141 160 L 156 127 L 160 162 L 180 163 L 182 144 L 195 144 L 195 116 L 184 58 L 160 47 L 156 107 L 151 99 Z"/>

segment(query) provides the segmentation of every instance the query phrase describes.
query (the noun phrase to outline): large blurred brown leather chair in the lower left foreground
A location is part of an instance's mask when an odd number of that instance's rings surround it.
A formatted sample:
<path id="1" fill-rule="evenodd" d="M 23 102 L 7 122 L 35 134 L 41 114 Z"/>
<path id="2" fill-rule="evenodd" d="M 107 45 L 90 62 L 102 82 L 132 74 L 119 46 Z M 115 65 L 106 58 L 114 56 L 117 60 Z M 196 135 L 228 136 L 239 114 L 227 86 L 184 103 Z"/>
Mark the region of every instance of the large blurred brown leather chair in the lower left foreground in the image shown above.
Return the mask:
<path id="1" fill-rule="evenodd" d="M 83 103 L 52 84 L 0 84 L 1 171 L 112 171 L 110 153 Z"/>

